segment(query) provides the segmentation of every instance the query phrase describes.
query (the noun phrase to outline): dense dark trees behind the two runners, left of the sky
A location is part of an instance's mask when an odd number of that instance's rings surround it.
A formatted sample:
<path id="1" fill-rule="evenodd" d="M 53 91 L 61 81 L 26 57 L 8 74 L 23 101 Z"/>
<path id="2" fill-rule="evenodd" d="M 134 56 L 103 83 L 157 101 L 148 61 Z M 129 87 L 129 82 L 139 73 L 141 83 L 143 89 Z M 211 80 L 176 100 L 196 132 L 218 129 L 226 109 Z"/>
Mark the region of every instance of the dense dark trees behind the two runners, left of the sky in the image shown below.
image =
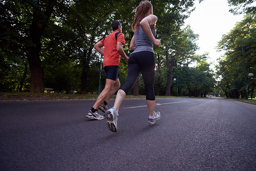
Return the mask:
<path id="1" fill-rule="evenodd" d="M 156 95 L 176 95 L 177 84 L 179 95 L 206 96 L 214 89 L 213 71 L 201 58 L 206 54 L 195 54 L 198 35 L 189 26 L 184 27 L 184 20 L 194 10 L 194 1 L 152 1 L 158 17 L 157 38 L 162 44 L 155 49 Z M 140 1 L 0 2 L 1 92 L 42 92 L 44 88 L 52 88 L 55 92 L 96 94 L 102 57 L 93 47 L 111 33 L 113 19 L 121 21 L 126 42 L 124 50 L 131 54 L 128 47 L 133 35 L 133 11 Z M 191 63 L 197 66 L 190 67 Z M 104 74 L 102 71 L 101 89 Z M 121 59 L 121 84 L 126 75 L 127 62 Z M 135 89 L 144 95 L 142 78 Z"/>

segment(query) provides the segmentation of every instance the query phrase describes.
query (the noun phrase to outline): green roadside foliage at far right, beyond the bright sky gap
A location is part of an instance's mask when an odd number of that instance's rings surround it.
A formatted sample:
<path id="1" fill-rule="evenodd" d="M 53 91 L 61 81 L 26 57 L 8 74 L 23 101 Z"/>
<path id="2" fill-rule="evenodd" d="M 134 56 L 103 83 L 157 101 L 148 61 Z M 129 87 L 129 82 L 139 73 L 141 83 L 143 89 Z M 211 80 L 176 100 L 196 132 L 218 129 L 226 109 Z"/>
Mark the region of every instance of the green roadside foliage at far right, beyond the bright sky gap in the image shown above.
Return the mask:
<path id="1" fill-rule="evenodd" d="M 215 94 L 230 98 L 255 97 L 256 88 L 256 7 L 255 0 L 228 0 L 234 14 L 246 14 L 243 21 L 222 36 L 218 44 L 225 56 L 217 66 L 220 82 Z M 248 74 L 248 75 L 247 75 Z M 254 74 L 254 76 L 252 75 Z"/>

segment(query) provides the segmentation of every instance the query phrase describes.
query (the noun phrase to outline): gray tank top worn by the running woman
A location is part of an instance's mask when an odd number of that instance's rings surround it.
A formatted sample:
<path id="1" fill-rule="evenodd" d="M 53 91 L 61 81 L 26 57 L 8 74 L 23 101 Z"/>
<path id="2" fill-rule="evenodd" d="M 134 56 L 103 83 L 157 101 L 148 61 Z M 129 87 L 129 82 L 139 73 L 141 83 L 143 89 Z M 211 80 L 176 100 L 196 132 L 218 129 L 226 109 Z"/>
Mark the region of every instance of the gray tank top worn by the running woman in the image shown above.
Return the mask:
<path id="1" fill-rule="evenodd" d="M 156 28 L 151 27 L 151 32 L 153 36 L 156 36 Z M 135 50 L 132 53 L 141 52 L 141 51 L 150 51 L 154 52 L 153 50 L 153 42 L 145 35 L 142 28 L 139 27 L 135 31 Z"/>

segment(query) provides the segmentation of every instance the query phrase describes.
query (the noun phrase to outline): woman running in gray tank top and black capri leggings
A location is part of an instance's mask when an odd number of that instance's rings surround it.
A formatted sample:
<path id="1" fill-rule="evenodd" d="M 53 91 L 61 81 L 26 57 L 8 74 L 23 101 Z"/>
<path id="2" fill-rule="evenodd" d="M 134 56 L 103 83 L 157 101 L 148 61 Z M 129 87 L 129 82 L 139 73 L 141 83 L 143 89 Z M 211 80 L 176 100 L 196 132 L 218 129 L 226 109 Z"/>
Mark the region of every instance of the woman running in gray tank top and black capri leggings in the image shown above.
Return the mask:
<path id="1" fill-rule="evenodd" d="M 146 89 L 146 101 L 148 105 L 148 123 L 155 124 L 160 119 L 160 112 L 155 112 L 155 54 L 153 44 L 160 47 L 161 40 L 155 39 L 157 22 L 156 15 L 153 15 L 153 6 L 149 1 L 143 1 L 136 8 L 135 19 L 132 23 L 132 37 L 130 49 L 134 50 L 128 60 L 127 81 L 121 86 L 116 95 L 114 106 L 106 111 L 107 125 L 113 132 L 117 131 L 117 116 L 119 107 L 139 78 L 140 72 Z"/>

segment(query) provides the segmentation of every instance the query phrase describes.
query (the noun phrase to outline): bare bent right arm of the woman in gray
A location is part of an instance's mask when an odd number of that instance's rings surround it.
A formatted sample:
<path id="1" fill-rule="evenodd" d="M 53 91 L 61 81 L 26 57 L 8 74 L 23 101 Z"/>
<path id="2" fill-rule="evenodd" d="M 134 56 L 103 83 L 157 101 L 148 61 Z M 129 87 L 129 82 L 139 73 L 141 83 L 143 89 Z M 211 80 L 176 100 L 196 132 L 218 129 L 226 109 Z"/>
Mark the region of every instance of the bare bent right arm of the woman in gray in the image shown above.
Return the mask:
<path id="1" fill-rule="evenodd" d="M 147 35 L 148 38 L 151 39 L 151 41 L 156 45 L 156 47 L 160 47 L 161 40 L 155 39 L 150 28 L 150 26 L 155 26 L 156 22 L 157 22 L 156 15 L 151 14 L 141 20 L 140 26 L 142 30 L 145 32 L 145 35 Z"/>

